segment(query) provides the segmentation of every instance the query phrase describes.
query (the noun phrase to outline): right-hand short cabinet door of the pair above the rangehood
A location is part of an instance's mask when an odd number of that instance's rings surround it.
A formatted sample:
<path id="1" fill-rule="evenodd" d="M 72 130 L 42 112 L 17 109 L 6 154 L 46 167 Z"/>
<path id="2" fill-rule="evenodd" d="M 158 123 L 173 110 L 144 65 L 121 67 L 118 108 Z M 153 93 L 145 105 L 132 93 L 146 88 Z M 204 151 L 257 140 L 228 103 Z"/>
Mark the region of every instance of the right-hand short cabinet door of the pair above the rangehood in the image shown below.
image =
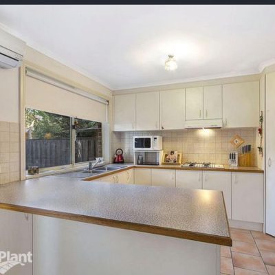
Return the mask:
<path id="1" fill-rule="evenodd" d="M 213 120 L 222 117 L 221 85 L 203 87 L 203 118 Z"/>

